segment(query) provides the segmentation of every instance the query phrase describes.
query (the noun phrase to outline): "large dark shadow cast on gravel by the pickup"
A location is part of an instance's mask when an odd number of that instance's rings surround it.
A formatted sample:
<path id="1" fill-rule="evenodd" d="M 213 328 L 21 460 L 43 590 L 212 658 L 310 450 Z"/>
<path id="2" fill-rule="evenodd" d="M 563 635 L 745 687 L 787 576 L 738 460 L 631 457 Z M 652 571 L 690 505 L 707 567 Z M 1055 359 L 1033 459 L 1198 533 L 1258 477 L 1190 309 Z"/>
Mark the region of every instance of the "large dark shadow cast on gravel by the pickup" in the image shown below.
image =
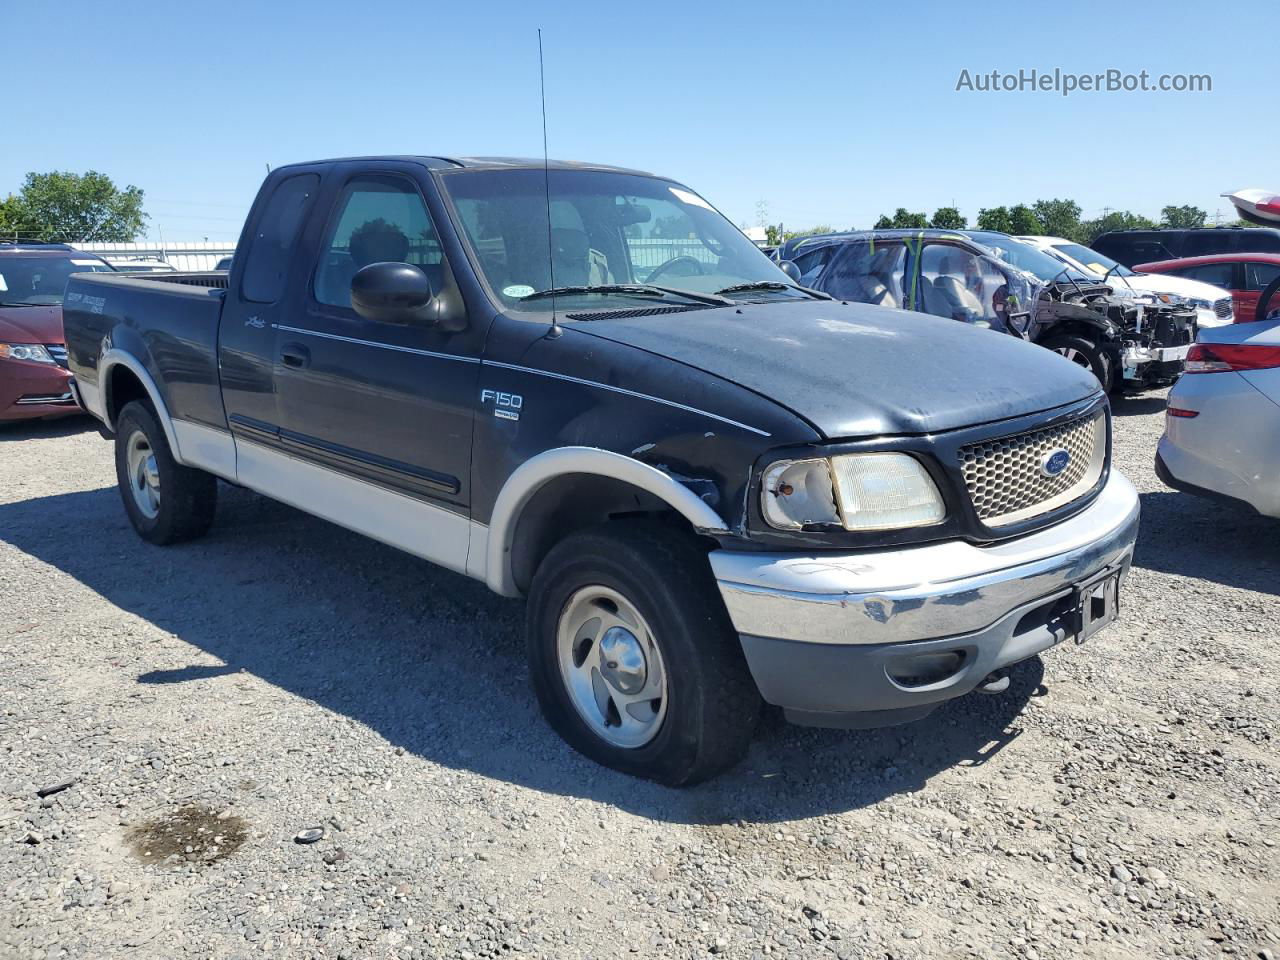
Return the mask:
<path id="1" fill-rule="evenodd" d="M 788 820 L 913 792 L 989 760 L 1019 735 L 1028 699 L 1046 692 L 1036 659 L 1006 694 L 904 727 L 801 730 L 767 714 L 736 769 L 668 790 L 582 759 L 541 722 L 520 602 L 244 490 L 224 485 L 220 497 L 210 534 L 169 549 L 133 534 L 114 488 L 0 504 L 0 536 L 221 662 L 179 654 L 138 684 L 198 699 L 244 671 L 434 763 L 659 820 Z M 246 728 L 244 750 L 253 742 Z"/>

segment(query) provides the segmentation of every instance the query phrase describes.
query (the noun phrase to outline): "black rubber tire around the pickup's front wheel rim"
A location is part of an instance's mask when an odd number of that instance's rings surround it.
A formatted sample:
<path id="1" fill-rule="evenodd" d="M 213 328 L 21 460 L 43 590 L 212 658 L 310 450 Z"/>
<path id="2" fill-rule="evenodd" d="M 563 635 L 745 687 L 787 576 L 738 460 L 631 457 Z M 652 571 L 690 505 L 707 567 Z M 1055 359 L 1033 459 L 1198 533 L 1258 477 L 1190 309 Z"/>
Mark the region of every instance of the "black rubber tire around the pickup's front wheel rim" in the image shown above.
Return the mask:
<path id="1" fill-rule="evenodd" d="M 666 713 L 653 739 L 616 746 L 589 726 L 561 673 L 558 627 L 579 591 L 625 596 L 649 625 L 662 658 Z M 529 595 L 529 672 L 543 714 L 579 753 L 668 786 L 714 777 L 737 763 L 760 716 L 737 634 L 692 539 L 659 524 L 616 521 L 558 543 Z"/>

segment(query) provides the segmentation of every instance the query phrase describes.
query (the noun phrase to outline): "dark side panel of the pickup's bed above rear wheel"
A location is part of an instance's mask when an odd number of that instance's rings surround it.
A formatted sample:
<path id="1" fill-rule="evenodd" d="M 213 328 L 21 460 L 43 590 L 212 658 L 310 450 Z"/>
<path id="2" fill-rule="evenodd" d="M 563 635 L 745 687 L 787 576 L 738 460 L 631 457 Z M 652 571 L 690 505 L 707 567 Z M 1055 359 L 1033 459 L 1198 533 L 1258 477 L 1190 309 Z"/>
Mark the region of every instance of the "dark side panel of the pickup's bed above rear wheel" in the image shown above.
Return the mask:
<path id="1" fill-rule="evenodd" d="M 97 366 L 110 346 L 140 358 L 170 410 L 225 429 L 218 378 L 218 323 L 225 273 L 76 274 L 63 326 L 68 365 L 84 393 L 101 393 Z M 105 396 L 104 396 L 105 402 Z"/>

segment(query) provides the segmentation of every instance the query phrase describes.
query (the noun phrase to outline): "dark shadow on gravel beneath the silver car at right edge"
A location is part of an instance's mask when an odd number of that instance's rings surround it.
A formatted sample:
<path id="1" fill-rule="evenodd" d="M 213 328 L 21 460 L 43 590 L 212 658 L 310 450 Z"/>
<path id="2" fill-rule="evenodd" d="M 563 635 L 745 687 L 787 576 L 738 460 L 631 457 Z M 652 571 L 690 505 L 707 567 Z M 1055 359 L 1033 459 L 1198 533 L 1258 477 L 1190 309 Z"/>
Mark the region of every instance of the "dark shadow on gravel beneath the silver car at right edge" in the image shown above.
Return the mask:
<path id="1" fill-rule="evenodd" d="M 1140 499 L 1135 566 L 1280 596 L 1280 520 L 1174 490 Z"/>

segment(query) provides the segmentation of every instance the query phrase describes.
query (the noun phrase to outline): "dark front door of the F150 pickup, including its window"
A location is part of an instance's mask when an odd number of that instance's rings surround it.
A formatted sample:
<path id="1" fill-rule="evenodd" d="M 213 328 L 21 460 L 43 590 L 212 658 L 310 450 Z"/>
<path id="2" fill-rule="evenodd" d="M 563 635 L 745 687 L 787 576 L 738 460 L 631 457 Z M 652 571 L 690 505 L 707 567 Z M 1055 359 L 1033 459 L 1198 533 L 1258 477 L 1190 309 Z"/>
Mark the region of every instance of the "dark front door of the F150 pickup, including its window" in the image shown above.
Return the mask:
<path id="1" fill-rule="evenodd" d="M 305 296 L 276 326 L 280 443 L 343 477 L 466 513 L 477 339 L 351 306 L 351 280 L 371 262 L 413 264 L 442 289 L 444 255 L 412 174 L 353 164 L 335 187 Z"/>

